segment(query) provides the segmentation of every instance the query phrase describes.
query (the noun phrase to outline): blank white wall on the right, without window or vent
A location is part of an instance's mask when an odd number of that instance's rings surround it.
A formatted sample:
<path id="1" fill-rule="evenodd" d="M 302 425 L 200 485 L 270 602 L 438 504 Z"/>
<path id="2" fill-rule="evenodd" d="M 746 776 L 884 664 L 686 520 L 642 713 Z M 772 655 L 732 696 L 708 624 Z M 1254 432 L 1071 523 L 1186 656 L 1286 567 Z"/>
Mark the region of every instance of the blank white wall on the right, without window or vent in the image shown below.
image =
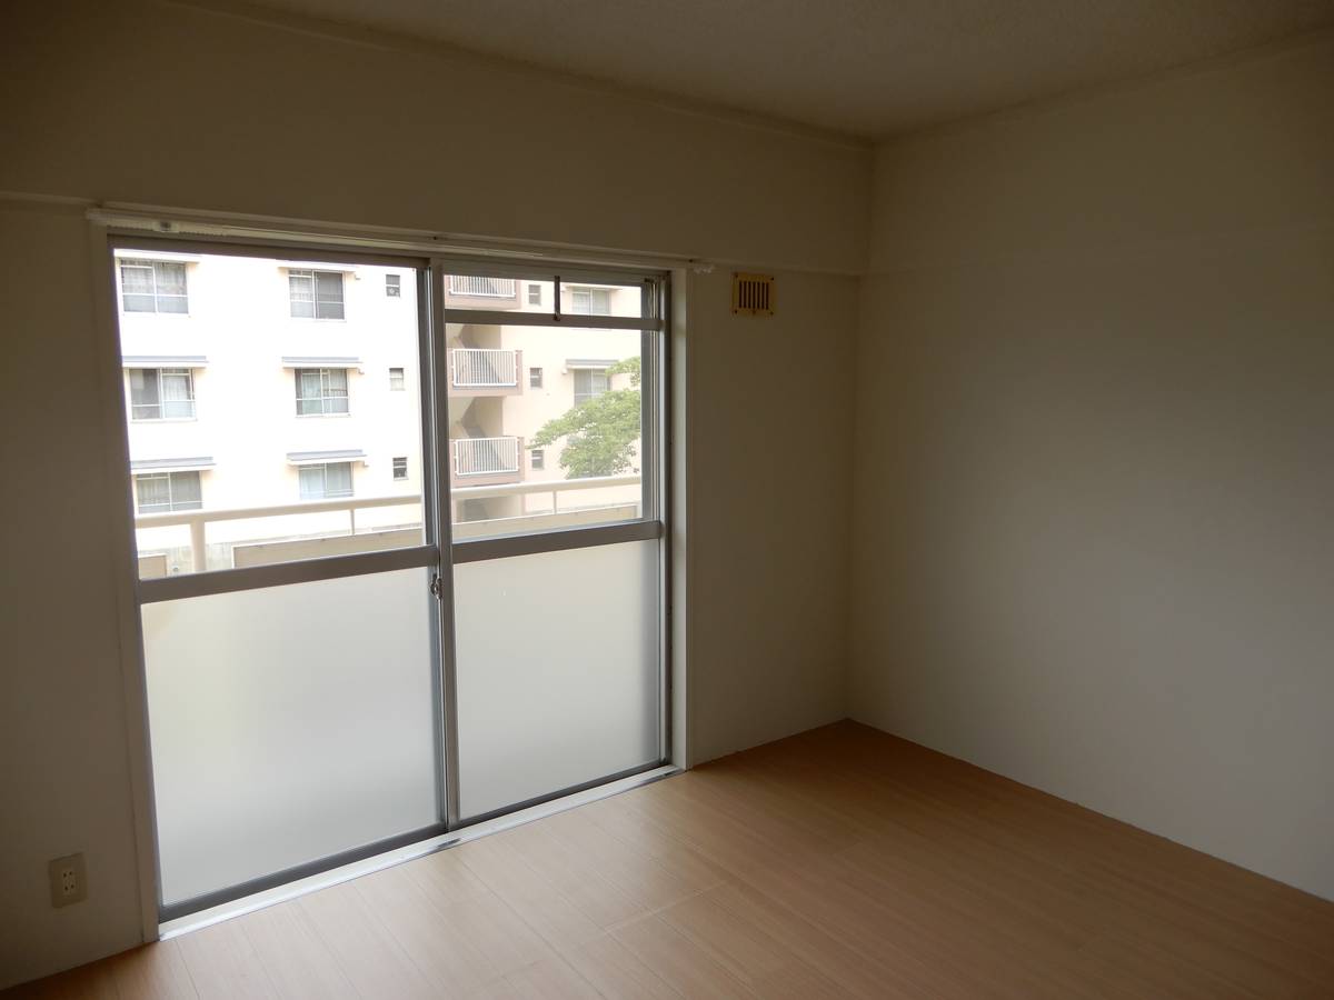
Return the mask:
<path id="1" fill-rule="evenodd" d="M 854 713 L 1334 899 L 1334 37 L 875 184 Z"/>

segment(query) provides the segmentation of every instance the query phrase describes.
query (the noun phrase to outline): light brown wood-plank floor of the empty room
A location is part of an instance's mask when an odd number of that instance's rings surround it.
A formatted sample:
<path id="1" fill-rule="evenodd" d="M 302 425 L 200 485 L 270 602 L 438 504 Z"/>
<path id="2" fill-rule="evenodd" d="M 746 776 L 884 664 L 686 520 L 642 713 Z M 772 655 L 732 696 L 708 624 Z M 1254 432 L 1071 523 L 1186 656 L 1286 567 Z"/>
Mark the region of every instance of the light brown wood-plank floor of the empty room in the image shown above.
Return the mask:
<path id="1" fill-rule="evenodd" d="M 843 723 L 13 996 L 1330 997 L 1334 904 Z"/>

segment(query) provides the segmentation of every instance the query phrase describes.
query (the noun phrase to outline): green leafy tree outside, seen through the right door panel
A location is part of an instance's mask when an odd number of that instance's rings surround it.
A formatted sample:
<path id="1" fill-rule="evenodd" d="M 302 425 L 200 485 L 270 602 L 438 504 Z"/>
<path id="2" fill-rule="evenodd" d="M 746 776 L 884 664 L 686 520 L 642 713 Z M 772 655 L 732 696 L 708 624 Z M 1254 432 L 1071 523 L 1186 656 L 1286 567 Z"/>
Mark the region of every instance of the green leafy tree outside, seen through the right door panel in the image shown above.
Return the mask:
<path id="1" fill-rule="evenodd" d="M 560 452 L 566 479 L 615 476 L 630 468 L 639 440 L 639 357 L 616 361 L 607 369 L 608 381 L 614 375 L 628 375 L 631 388 L 584 400 L 548 420 L 532 439 L 534 448 L 566 439 Z"/>

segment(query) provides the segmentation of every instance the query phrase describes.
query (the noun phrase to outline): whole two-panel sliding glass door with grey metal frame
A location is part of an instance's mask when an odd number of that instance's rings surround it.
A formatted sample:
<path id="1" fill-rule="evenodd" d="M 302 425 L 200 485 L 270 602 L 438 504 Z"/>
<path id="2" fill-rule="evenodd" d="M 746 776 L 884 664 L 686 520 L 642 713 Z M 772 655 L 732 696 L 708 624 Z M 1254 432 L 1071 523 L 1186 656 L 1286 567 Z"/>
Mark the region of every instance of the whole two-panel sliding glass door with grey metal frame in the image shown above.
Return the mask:
<path id="1" fill-rule="evenodd" d="M 112 265 L 163 919 L 664 760 L 660 277 Z"/>

